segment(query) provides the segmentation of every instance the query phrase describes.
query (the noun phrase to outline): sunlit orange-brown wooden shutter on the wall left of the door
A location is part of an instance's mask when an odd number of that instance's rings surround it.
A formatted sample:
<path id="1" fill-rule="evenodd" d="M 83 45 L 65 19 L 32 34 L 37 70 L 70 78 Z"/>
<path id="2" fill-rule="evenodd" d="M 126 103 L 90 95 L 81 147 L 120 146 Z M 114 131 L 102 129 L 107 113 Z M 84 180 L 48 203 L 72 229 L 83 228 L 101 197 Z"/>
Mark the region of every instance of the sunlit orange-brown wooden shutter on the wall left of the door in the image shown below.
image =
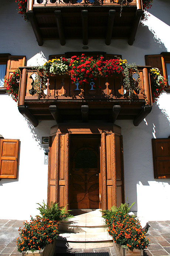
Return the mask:
<path id="1" fill-rule="evenodd" d="M 0 178 L 16 179 L 19 140 L 0 139 Z"/>

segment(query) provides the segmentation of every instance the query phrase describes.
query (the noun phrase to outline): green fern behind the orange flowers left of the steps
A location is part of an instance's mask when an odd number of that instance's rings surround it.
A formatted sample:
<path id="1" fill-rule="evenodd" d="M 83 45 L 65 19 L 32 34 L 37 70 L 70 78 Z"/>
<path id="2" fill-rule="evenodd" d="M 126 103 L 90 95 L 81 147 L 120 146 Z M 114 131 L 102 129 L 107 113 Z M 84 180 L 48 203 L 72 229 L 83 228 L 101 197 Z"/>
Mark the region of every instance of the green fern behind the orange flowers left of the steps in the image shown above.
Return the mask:
<path id="1" fill-rule="evenodd" d="M 38 204 L 38 203 L 37 203 Z M 43 201 L 43 204 L 38 204 L 40 207 L 37 209 L 40 211 L 42 219 L 49 219 L 53 221 L 63 221 L 63 220 L 69 220 L 72 217 L 74 217 L 72 214 L 69 213 L 70 210 L 66 210 L 65 207 L 59 207 L 58 203 L 51 202 L 50 205 L 45 204 Z"/>

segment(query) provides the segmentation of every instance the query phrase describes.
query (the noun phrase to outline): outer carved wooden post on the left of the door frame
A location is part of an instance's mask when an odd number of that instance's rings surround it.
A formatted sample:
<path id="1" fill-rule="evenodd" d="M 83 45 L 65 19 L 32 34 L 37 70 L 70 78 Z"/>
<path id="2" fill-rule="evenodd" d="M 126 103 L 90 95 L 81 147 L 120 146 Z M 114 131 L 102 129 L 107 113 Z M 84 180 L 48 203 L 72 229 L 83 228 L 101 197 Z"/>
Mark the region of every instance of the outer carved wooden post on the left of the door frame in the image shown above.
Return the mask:
<path id="1" fill-rule="evenodd" d="M 55 201 L 56 203 L 59 202 L 59 138 L 60 138 L 60 134 L 57 133 L 56 135 L 56 159 L 55 159 Z"/>

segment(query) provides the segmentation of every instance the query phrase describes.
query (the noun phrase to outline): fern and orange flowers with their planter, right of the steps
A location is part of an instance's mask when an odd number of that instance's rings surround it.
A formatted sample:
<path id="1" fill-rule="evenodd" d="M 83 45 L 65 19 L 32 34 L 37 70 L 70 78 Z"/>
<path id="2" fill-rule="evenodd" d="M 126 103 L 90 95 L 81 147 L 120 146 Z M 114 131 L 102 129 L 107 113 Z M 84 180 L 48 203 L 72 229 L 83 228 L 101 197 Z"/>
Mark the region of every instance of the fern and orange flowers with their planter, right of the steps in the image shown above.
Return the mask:
<path id="1" fill-rule="evenodd" d="M 129 207 L 129 204 L 125 203 L 118 208 L 113 206 L 111 210 L 103 211 L 103 218 L 108 224 L 108 233 L 113 237 L 118 256 L 143 255 L 143 250 L 149 244 L 140 221 L 128 214 L 133 204 Z"/>

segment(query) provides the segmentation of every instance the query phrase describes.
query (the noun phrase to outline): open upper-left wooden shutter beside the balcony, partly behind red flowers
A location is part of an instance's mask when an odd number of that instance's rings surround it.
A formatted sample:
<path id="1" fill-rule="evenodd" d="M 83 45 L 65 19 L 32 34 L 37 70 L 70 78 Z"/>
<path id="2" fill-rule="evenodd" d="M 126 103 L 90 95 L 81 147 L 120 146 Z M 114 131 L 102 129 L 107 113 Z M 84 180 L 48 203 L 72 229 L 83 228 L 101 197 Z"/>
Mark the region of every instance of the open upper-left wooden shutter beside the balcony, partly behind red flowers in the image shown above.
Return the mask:
<path id="1" fill-rule="evenodd" d="M 25 66 L 26 56 L 9 56 L 7 64 L 6 78 L 9 78 L 12 73 L 19 67 Z"/>

